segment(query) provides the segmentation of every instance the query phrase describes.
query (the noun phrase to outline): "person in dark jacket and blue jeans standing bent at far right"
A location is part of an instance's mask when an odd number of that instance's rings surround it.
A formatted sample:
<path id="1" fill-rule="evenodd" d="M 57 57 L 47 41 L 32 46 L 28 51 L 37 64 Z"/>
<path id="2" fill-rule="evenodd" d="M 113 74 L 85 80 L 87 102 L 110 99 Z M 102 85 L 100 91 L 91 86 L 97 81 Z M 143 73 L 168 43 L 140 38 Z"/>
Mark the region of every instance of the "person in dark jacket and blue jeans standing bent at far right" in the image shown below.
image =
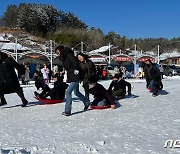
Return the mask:
<path id="1" fill-rule="evenodd" d="M 163 89 L 161 73 L 150 59 L 146 60 L 144 74 L 146 78 L 146 88 L 151 89 L 153 97 L 157 96 L 158 90 Z"/>

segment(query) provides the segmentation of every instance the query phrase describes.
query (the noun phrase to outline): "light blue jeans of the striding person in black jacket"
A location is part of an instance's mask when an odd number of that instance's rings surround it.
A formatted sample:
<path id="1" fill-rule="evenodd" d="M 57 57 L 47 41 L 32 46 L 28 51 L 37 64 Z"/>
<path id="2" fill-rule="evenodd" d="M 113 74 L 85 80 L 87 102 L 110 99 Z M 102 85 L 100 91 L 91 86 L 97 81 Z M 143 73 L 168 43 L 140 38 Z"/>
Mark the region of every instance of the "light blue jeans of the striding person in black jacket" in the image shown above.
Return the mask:
<path id="1" fill-rule="evenodd" d="M 79 91 L 79 81 L 77 82 L 71 82 L 66 89 L 66 104 L 65 104 L 65 112 L 71 113 L 72 109 L 72 91 L 74 91 L 74 94 L 84 103 L 85 106 L 88 106 L 90 104 L 90 101 Z"/>

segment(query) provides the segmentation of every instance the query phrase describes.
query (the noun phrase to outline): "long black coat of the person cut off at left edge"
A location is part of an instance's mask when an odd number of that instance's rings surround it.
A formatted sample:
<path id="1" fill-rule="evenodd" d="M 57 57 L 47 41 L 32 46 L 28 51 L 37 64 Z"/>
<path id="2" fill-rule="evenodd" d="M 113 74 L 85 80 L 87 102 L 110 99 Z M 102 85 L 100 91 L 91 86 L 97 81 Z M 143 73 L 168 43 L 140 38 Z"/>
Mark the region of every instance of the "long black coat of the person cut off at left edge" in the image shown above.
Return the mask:
<path id="1" fill-rule="evenodd" d="M 0 91 L 3 91 L 3 85 L 8 85 L 10 89 L 18 89 L 20 87 L 15 68 L 18 70 L 18 73 L 22 75 L 24 70 L 21 65 L 19 65 L 11 57 L 6 57 L 0 60 Z M 10 91 L 9 93 L 11 93 Z M 4 94 L 8 93 L 8 90 Z"/>

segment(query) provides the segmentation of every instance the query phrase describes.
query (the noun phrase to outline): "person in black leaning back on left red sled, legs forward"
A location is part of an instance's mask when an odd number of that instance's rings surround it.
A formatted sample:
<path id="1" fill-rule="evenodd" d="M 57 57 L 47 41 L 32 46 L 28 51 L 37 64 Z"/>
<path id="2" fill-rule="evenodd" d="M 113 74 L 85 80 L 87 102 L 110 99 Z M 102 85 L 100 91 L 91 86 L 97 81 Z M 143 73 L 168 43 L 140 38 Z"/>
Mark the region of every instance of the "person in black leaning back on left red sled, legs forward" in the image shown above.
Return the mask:
<path id="1" fill-rule="evenodd" d="M 53 76 L 54 87 L 50 88 L 46 83 L 42 83 L 45 87 L 43 91 L 39 94 L 34 92 L 34 95 L 38 98 L 46 99 L 50 96 L 51 100 L 63 100 L 65 97 L 65 91 L 68 87 L 68 84 L 63 82 L 62 77 L 57 73 Z"/>

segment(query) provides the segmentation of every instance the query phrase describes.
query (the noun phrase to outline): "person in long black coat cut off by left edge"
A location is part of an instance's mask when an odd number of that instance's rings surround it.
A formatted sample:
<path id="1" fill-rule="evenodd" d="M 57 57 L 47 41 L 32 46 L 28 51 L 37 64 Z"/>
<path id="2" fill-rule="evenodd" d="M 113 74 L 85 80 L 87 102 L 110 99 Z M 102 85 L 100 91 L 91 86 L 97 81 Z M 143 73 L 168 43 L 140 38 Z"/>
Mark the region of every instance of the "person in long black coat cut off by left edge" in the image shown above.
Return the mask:
<path id="1" fill-rule="evenodd" d="M 25 107 L 28 103 L 24 97 L 23 90 L 20 87 L 15 68 L 20 75 L 24 76 L 24 70 L 20 64 L 9 55 L 0 52 L 0 106 L 7 104 L 4 95 L 14 92 L 21 98 L 21 107 Z"/>

